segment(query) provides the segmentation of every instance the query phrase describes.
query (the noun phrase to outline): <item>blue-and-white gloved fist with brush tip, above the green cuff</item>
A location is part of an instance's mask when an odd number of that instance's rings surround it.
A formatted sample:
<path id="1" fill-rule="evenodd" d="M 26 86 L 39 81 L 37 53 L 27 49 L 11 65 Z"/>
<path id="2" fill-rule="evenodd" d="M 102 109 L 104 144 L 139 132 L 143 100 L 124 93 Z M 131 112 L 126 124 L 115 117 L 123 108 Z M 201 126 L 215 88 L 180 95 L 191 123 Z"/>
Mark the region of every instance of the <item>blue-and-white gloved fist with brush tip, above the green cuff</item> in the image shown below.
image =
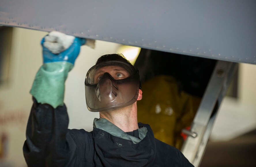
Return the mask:
<path id="1" fill-rule="evenodd" d="M 94 40 L 77 38 L 64 33 L 52 31 L 42 41 L 44 63 L 66 61 L 74 64 L 80 52 L 80 46 L 93 43 Z"/>

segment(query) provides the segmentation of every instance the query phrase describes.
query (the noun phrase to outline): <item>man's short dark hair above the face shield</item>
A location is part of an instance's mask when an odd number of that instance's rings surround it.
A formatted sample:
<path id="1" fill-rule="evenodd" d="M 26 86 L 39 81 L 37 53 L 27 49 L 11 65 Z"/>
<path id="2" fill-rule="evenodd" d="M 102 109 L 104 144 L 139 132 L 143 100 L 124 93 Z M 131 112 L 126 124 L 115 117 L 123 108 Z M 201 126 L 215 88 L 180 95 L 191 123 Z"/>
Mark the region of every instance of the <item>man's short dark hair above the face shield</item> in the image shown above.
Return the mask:
<path id="1" fill-rule="evenodd" d="M 108 62 L 108 61 L 121 61 L 125 62 L 131 66 L 133 66 L 129 60 L 126 60 L 125 56 L 123 54 L 105 54 L 103 56 L 100 56 L 96 62 L 96 64 Z"/>

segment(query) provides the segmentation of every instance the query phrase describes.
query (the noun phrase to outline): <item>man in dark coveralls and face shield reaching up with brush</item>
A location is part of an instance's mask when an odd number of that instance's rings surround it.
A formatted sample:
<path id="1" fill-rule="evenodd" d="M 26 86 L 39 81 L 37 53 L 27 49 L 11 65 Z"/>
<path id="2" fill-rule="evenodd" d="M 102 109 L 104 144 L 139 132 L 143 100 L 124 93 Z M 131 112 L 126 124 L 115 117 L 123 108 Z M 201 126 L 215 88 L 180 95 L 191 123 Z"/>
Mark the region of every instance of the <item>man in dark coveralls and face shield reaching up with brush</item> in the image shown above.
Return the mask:
<path id="1" fill-rule="evenodd" d="M 67 129 L 64 83 L 84 43 L 56 32 L 42 40 L 44 64 L 30 91 L 34 103 L 23 146 L 28 166 L 193 166 L 137 122 L 139 74 L 122 55 L 101 56 L 86 75 L 86 105 L 100 112 L 93 131 Z"/>

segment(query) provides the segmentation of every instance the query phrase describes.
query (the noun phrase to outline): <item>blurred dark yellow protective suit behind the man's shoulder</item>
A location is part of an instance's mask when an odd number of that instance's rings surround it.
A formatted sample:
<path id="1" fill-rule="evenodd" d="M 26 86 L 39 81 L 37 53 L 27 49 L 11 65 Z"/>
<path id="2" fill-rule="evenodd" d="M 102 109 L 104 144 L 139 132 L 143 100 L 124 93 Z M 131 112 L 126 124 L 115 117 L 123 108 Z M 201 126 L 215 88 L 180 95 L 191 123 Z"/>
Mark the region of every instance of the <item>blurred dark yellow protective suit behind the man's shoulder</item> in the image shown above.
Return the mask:
<path id="1" fill-rule="evenodd" d="M 142 92 L 138 122 L 149 124 L 155 138 L 180 149 L 181 130 L 191 125 L 201 98 L 179 91 L 176 79 L 168 75 L 144 82 Z"/>

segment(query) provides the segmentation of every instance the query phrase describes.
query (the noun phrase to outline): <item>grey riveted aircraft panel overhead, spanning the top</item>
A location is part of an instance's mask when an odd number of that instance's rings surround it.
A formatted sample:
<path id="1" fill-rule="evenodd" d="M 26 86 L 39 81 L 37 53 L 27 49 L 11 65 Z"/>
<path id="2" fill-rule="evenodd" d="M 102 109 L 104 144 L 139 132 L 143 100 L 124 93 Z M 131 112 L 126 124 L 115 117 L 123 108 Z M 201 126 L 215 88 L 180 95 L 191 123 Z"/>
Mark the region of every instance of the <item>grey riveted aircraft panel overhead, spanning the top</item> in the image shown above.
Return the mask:
<path id="1" fill-rule="evenodd" d="M 254 0 L 1 0 L 0 24 L 256 64 Z"/>

